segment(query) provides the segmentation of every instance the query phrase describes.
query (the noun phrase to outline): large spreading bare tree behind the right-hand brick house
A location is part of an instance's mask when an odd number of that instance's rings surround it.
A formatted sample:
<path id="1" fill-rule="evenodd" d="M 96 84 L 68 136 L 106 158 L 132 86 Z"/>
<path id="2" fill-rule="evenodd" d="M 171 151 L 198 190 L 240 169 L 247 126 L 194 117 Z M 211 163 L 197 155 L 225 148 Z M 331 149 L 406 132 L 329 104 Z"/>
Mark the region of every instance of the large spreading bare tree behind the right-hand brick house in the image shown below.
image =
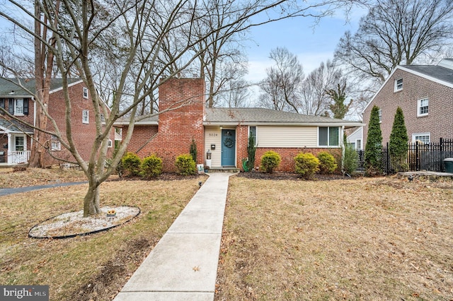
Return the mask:
<path id="1" fill-rule="evenodd" d="M 399 64 L 413 64 L 445 51 L 453 37 L 449 0 L 377 0 L 357 33 L 340 39 L 335 59 L 365 79 L 383 83 Z M 375 90 L 375 88 L 372 88 Z"/>

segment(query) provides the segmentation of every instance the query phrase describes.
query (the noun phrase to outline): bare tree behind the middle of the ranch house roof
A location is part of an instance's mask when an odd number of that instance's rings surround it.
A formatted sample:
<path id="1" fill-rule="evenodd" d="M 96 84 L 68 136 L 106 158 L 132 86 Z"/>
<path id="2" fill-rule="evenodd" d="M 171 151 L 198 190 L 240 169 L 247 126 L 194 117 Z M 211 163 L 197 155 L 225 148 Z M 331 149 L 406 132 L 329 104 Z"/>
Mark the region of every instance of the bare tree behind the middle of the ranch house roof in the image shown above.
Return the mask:
<path id="1" fill-rule="evenodd" d="M 260 102 L 274 110 L 299 112 L 299 89 L 304 80 L 304 67 L 297 56 L 284 47 L 270 51 L 275 66 L 266 70 L 268 77 L 260 83 Z"/>

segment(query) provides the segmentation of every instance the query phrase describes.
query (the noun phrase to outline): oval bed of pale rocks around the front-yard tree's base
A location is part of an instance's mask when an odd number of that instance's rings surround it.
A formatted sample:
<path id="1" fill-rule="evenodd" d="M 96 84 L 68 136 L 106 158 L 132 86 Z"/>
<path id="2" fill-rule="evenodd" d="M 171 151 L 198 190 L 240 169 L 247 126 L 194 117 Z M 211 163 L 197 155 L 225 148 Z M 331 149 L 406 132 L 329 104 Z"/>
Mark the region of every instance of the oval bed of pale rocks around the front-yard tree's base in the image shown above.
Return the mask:
<path id="1" fill-rule="evenodd" d="M 115 216 L 108 216 L 108 211 Z M 28 237 L 63 239 L 102 232 L 127 223 L 140 214 L 140 208 L 132 206 L 103 207 L 97 216 L 84 218 L 84 211 L 63 213 L 43 220 L 28 231 Z"/>

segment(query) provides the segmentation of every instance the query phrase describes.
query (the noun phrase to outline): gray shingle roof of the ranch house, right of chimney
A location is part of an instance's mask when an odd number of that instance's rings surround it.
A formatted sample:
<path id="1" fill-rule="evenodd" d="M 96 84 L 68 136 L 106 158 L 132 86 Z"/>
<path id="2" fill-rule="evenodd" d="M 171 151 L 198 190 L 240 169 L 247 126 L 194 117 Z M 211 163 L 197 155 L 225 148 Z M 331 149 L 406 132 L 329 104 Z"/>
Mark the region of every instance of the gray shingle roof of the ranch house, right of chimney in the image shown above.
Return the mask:
<path id="1" fill-rule="evenodd" d="M 243 108 L 209 108 L 206 109 L 205 123 L 244 123 L 244 124 L 355 124 L 358 122 L 348 122 L 343 119 L 330 117 L 304 115 L 292 112 L 283 112 L 259 107 Z"/>

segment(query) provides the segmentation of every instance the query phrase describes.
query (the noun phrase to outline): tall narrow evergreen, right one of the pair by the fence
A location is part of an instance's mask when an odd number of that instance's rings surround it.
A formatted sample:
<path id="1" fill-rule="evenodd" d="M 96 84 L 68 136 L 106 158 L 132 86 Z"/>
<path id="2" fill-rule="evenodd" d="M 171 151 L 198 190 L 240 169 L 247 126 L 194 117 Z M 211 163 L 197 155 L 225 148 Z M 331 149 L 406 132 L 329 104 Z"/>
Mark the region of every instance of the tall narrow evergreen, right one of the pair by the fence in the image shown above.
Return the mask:
<path id="1" fill-rule="evenodd" d="M 391 128 L 389 153 L 391 166 L 394 170 L 407 170 L 406 158 L 408 155 L 408 131 L 404 123 L 404 115 L 401 107 L 396 109 L 394 125 Z"/>

